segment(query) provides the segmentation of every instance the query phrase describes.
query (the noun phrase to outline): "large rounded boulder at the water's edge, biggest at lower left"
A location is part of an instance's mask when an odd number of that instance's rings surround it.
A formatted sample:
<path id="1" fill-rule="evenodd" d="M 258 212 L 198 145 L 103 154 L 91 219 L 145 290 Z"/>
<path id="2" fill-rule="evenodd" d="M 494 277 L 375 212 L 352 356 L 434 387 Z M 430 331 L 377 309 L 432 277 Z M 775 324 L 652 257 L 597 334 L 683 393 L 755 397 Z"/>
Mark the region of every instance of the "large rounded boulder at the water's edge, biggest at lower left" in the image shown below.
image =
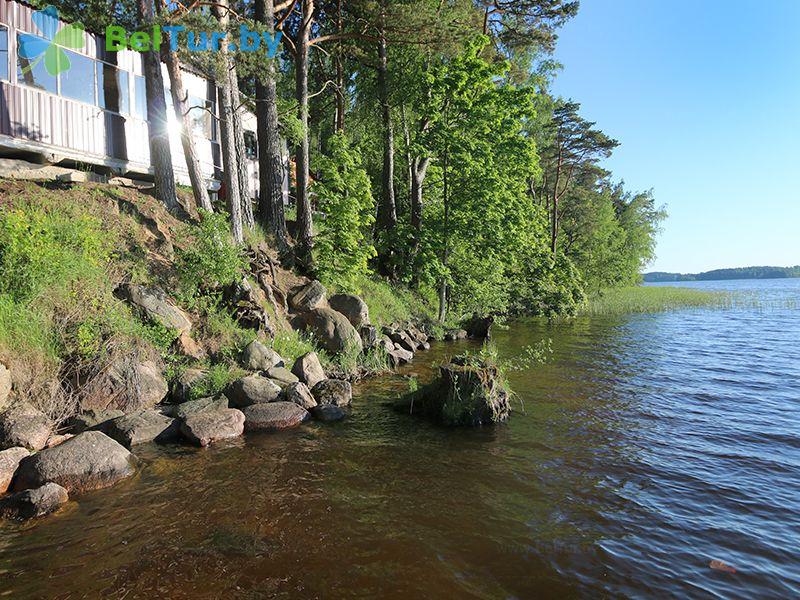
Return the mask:
<path id="1" fill-rule="evenodd" d="M 134 473 L 134 456 L 100 431 L 86 431 L 55 448 L 23 458 L 14 490 L 37 488 L 50 481 L 69 493 L 114 485 Z"/>

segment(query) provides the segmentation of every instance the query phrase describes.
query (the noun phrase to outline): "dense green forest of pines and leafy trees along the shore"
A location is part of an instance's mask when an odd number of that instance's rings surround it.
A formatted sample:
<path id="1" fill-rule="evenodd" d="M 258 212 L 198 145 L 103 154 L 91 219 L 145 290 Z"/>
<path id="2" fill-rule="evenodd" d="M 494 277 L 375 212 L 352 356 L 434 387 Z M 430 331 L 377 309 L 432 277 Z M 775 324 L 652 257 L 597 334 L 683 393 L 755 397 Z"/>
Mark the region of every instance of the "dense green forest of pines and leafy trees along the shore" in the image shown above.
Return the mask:
<path id="1" fill-rule="evenodd" d="M 266 52 L 187 52 L 165 36 L 143 52 L 155 194 L 178 210 L 166 110 L 203 214 L 224 212 L 236 243 L 261 231 L 282 262 L 336 289 L 381 278 L 438 307 L 570 315 L 587 295 L 637 283 L 666 216 L 651 191 L 603 168 L 618 141 L 556 96 L 565 0 L 51 0 L 103 31 L 154 24 L 281 34 Z M 179 35 L 186 35 L 185 32 Z M 177 47 L 177 51 L 172 48 Z M 162 80 L 159 61 L 167 66 Z M 224 194 L 205 189 L 181 82 L 218 87 Z M 165 99 L 171 95 L 171 103 Z M 579 100 L 579 99 L 578 99 Z M 240 118 L 258 120 L 259 198 L 248 200 Z M 283 148 L 291 168 L 284 206 Z"/>

